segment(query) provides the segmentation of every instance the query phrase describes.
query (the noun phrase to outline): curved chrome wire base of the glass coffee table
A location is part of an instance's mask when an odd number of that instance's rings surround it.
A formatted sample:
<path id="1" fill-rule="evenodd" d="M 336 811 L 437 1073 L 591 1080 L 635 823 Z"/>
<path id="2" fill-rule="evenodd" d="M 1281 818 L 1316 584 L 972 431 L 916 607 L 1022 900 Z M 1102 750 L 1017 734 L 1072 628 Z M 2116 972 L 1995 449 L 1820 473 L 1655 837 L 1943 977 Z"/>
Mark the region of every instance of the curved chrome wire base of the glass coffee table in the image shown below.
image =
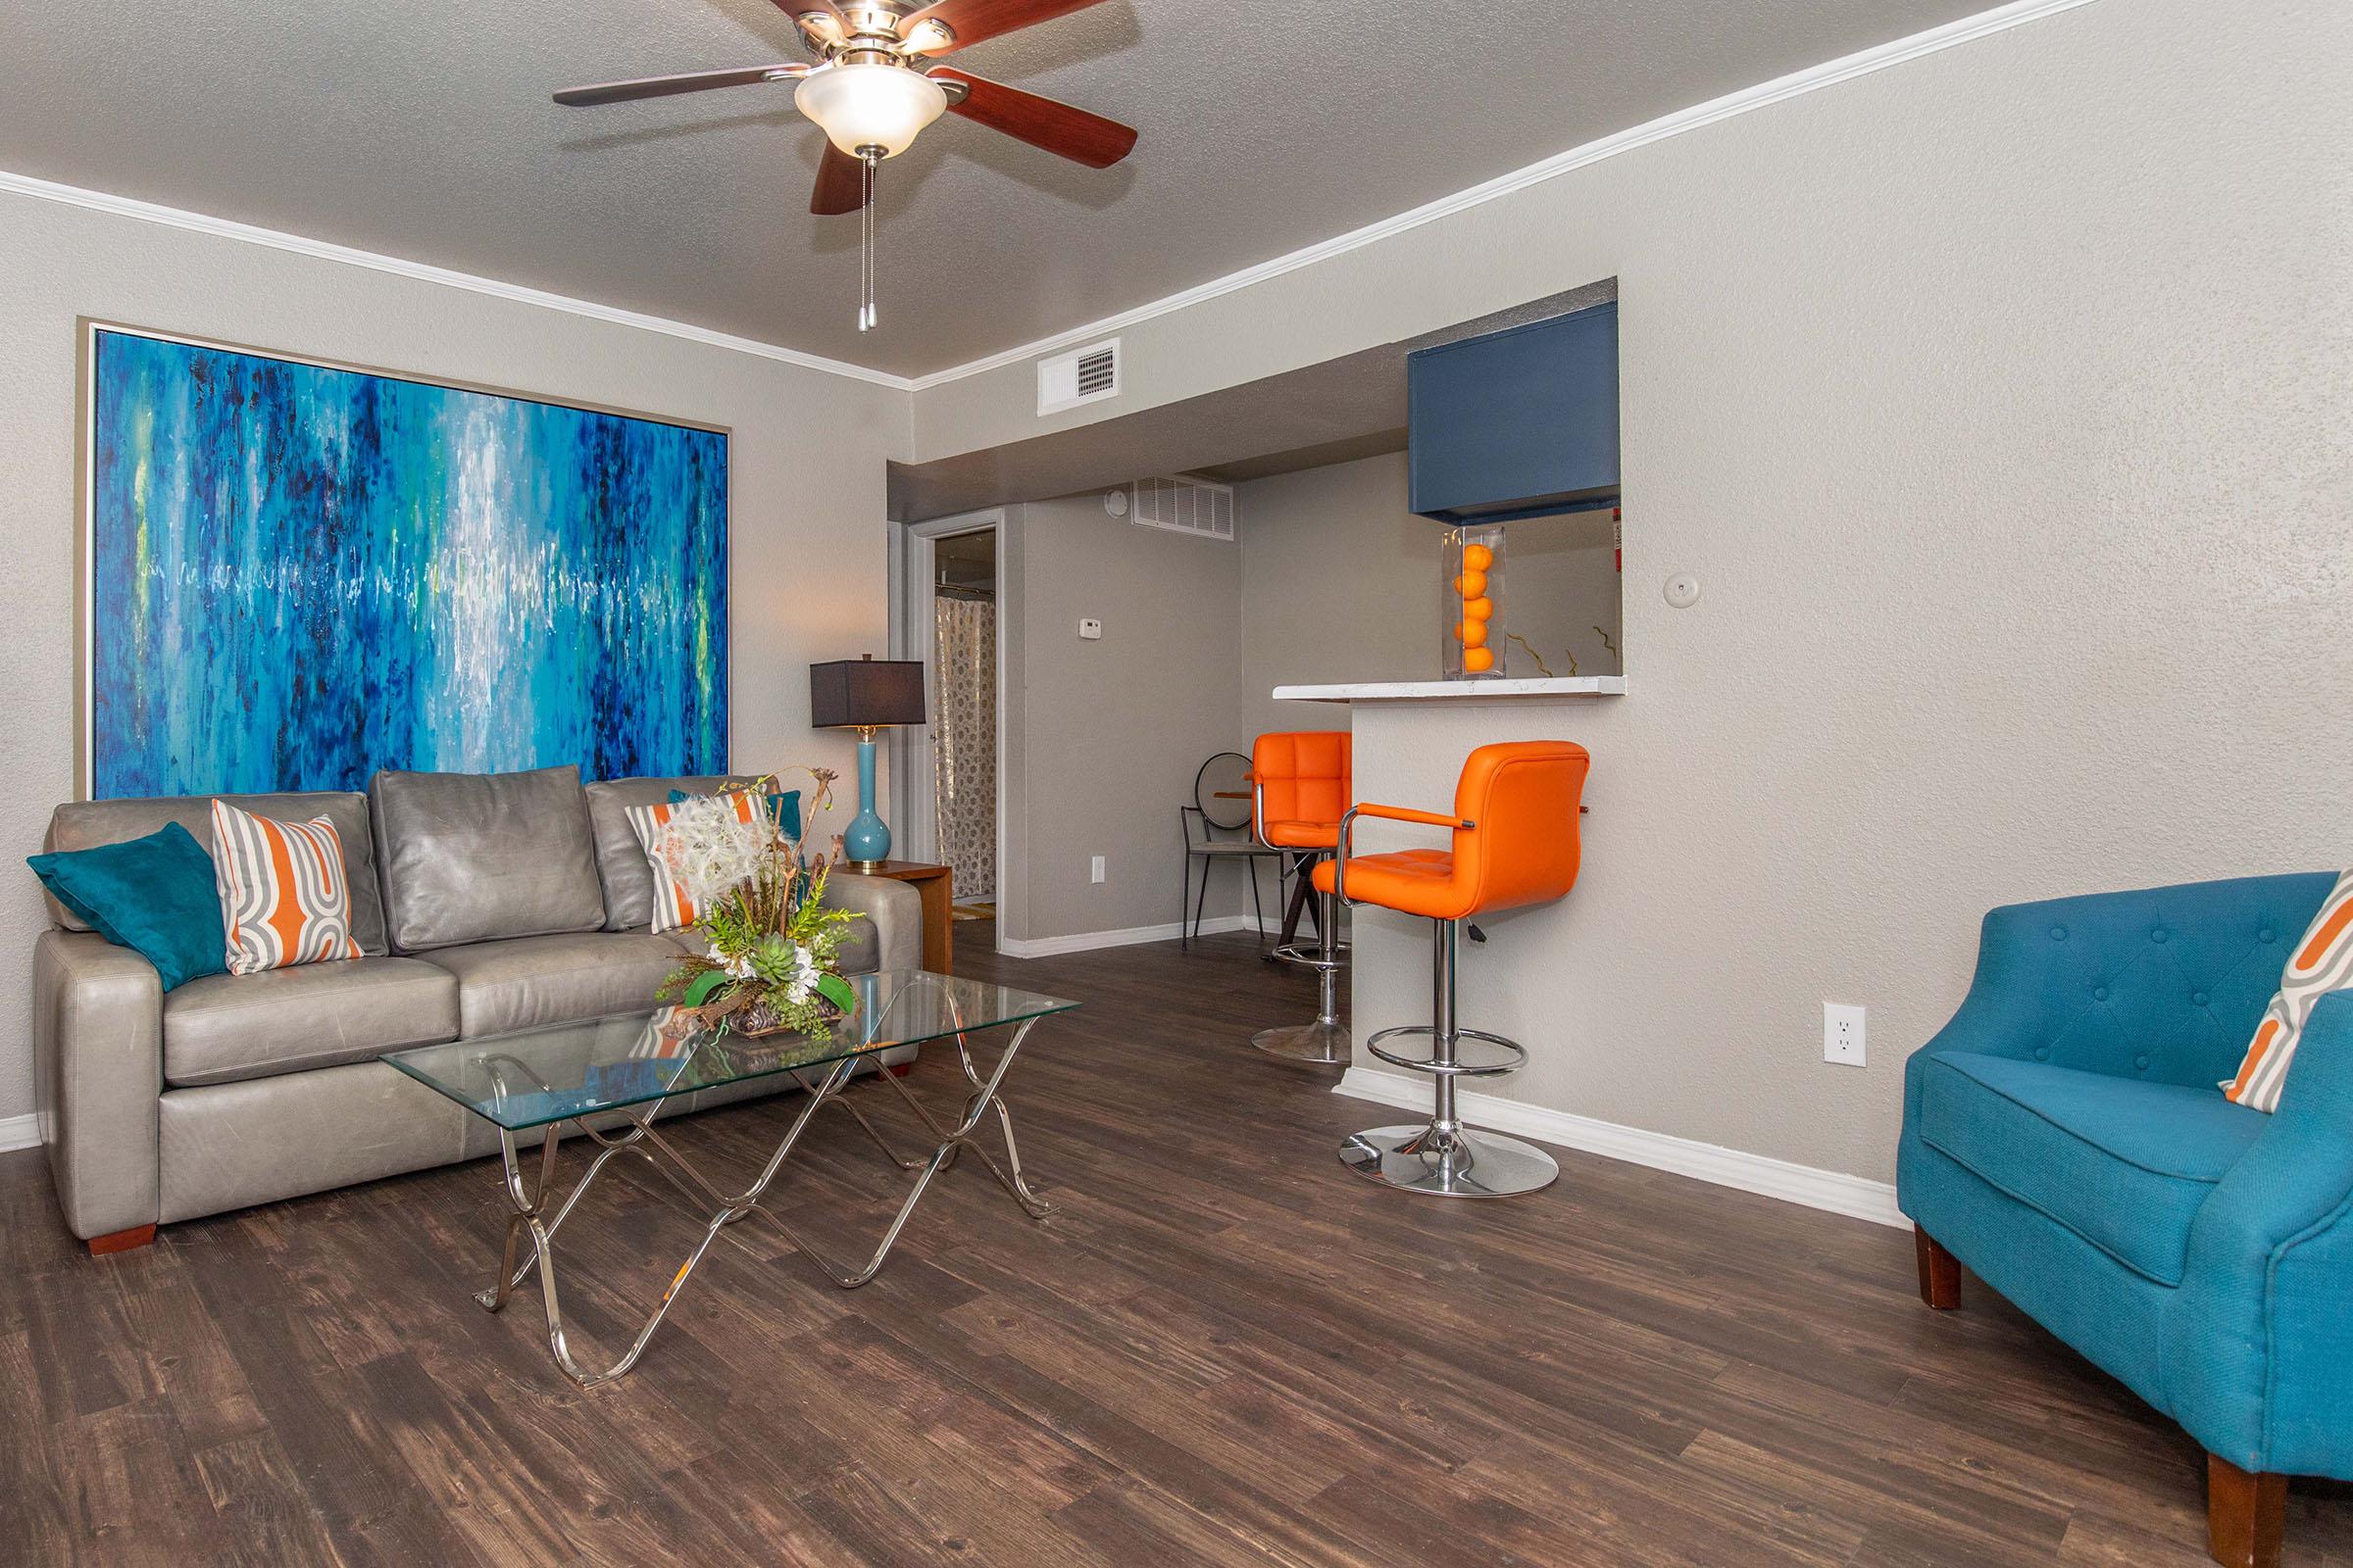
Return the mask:
<path id="1" fill-rule="evenodd" d="M 934 1138 L 939 1138 L 939 1145 L 932 1150 L 929 1159 L 901 1159 L 899 1152 L 889 1147 L 882 1133 L 875 1131 L 875 1126 L 856 1107 L 856 1103 L 842 1098 L 842 1088 L 849 1084 L 852 1070 L 856 1067 L 859 1060 L 864 1060 L 854 1056 L 831 1063 L 816 1074 L 814 1081 L 802 1077 L 800 1072 L 791 1074 L 793 1081 L 798 1081 L 805 1091 L 809 1091 L 807 1103 L 800 1107 L 800 1114 L 793 1117 L 793 1126 L 784 1133 L 784 1143 L 776 1145 L 776 1152 L 769 1157 L 767 1166 L 760 1168 L 758 1180 L 753 1180 L 751 1187 L 736 1194 L 727 1194 L 715 1182 L 704 1178 L 704 1173 L 696 1171 L 692 1164 L 687 1164 L 687 1159 L 671 1145 L 671 1140 L 661 1135 L 661 1131 L 654 1126 L 654 1117 L 661 1110 L 661 1103 L 614 1112 L 624 1119 L 624 1126 L 619 1128 L 609 1126 L 598 1128 L 586 1121 L 579 1121 L 576 1126 L 598 1145 L 598 1150 L 588 1159 L 588 1168 L 581 1173 L 581 1178 L 572 1185 L 569 1192 L 562 1194 L 560 1201 L 553 1204 L 553 1208 L 551 1208 L 551 1185 L 555 1175 L 558 1128 L 562 1124 L 548 1126 L 546 1133 L 541 1135 L 536 1180 L 532 1180 L 525 1173 L 529 1154 L 518 1143 L 518 1135 L 501 1128 L 499 1150 L 506 1157 L 506 1197 L 513 1204 L 515 1213 L 506 1222 L 506 1248 L 499 1262 L 499 1281 L 487 1291 L 478 1291 L 475 1300 L 482 1302 L 482 1307 L 487 1307 L 489 1312 L 499 1312 L 501 1307 L 506 1307 L 508 1295 L 525 1281 L 525 1276 L 529 1276 L 536 1269 L 539 1300 L 541 1307 L 546 1309 L 546 1321 L 548 1321 L 548 1349 L 555 1352 L 555 1366 L 560 1366 L 572 1382 L 588 1389 L 600 1382 L 612 1382 L 614 1378 L 619 1378 L 621 1373 L 626 1373 L 638 1363 L 638 1356 L 645 1354 L 645 1347 L 654 1338 L 654 1331 L 661 1328 L 661 1319 L 671 1312 L 671 1302 L 678 1300 L 680 1288 L 685 1288 L 687 1276 L 694 1274 L 694 1267 L 704 1260 L 704 1253 L 711 1251 L 711 1244 L 718 1241 L 729 1225 L 734 1225 L 736 1220 L 746 1220 L 755 1213 L 765 1218 L 769 1225 L 774 1225 L 779 1232 L 784 1232 L 784 1237 L 793 1244 L 795 1251 L 807 1255 L 809 1262 L 814 1262 L 826 1274 L 826 1279 L 831 1279 L 835 1286 L 845 1291 L 864 1286 L 882 1269 L 882 1260 L 889 1258 L 892 1246 L 899 1241 L 899 1232 L 906 1229 L 908 1215 L 915 1213 L 915 1204 L 922 1201 L 922 1194 L 932 1185 L 932 1178 L 953 1166 L 955 1157 L 962 1150 L 972 1150 L 981 1159 L 981 1164 L 988 1166 L 988 1173 L 998 1178 L 998 1185 L 1005 1187 L 1005 1192 L 1016 1204 L 1021 1204 L 1024 1213 L 1028 1213 L 1033 1220 L 1042 1220 L 1047 1213 L 1052 1213 L 1052 1208 L 1035 1192 L 1031 1192 L 1028 1182 L 1021 1175 L 1021 1150 L 1014 1145 L 1014 1117 L 1012 1110 L 1007 1110 L 1005 1100 L 998 1098 L 998 1086 L 1005 1081 L 1005 1070 L 1012 1067 L 1014 1056 L 1021 1051 L 1021 1039 L 1031 1032 L 1031 1023 L 1035 1020 L 1026 1020 L 1014 1027 L 1012 1039 L 1005 1044 L 1005 1056 L 998 1058 L 998 1065 L 986 1077 L 981 1077 L 981 1072 L 974 1067 L 972 1051 L 967 1048 L 965 1039 L 953 1037 L 955 1060 L 965 1072 L 965 1081 L 972 1086 L 972 1093 L 965 1095 L 962 1117 L 953 1126 L 944 1126 L 929 1112 L 929 1107 L 922 1105 L 922 1100 L 908 1093 L 906 1084 L 901 1084 L 896 1074 L 892 1074 L 889 1070 L 875 1074 L 894 1091 L 899 1091 L 899 1098 L 913 1107 L 922 1126 Z M 506 1067 L 522 1070 L 522 1063 L 508 1058 Z M 518 1088 L 522 1088 L 522 1084 L 518 1084 Z M 875 1244 L 873 1253 L 859 1267 L 845 1267 L 826 1258 L 826 1253 L 809 1246 L 791 1225 L 784 1222 L 784 1218 L 772 1206 L 762 1201 L 767 1197 L 769 1185 L 776 1180 L 776 1173 L 784 1171 L 786 1159 L 791 1159 L 795 1145 L 800 1145 L 800 1135 L 807 1131 L 816 1112 L 826 1105 L 840 1105 L 842 1110 L 847 1110 L 856 1119 L 856 1124 L 866 1131 L 866 1135 L 875 1143 L 875 1147 L 882 1150 L 882 1154 L 894 1166 L 899 1166 L 901 1171 L 918 1171 L 915 1182 L 908 1187 L 906 1199 L 899 1204 L 899 1211 L 882 1229 L 882 1237 Z M 995 1117 L 998 1135 L 1005 1143 L 1005 1164 L 998 1164 L 995 1154 L 991 1154 L 976 1138 L 981 1121 L 986 1121 L 991 1114 Z M 638 1338 L 631 1342 L 628 1354 L 624 1354 L 619 1361 L 614 1361 L 602 1371 L 588 1371 L 572 1356 L 572 1347 L 565 1342 L 565 1314 L 555 1288 L 555 1232 L 562 1229 L 565 1220 L 572 1215 L 574 1204 L 579 1204 L 581 1194 L 595 1185 L 595 1178 L 605 1171 L 607 1161 L 612 1161 L 614 1154 L 635 1154 L 645 1159 L 649 1166 L 654 1166 L 654 1171 L 664 1175 L 664 1180 L 673 1190 L 678 1190 L 678 1194 L 685 1199 L 685 1206 L 706 1222 L 701 1241 L 694 1244 L 694 1251 L 687 1253 L 687 1260 L 678 1265 L 675 1274 L 671 1274 L 671 1281 L 668 1286 L 664 1286 L 661 1298 L 647 1312 L 645 1326 L 638 1328 Z M 529 1248 L 518 1260 L 518 1248 L 522 1248 L 525 1237 L 529 1237 Z"/>

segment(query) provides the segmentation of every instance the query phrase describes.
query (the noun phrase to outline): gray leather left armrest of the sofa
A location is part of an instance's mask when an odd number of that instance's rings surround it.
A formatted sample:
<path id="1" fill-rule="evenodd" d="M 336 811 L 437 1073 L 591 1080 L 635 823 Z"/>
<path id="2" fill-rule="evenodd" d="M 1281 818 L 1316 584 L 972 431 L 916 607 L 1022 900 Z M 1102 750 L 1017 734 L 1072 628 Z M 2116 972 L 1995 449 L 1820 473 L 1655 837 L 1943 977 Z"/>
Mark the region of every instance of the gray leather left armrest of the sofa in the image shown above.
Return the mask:
<path id="1" fill-rule="evenodd" d="M 85 1241 L 162 1213 L 162 980 L 87 931 L 33 943 L 33 1079 L 66 1229 Z"/>

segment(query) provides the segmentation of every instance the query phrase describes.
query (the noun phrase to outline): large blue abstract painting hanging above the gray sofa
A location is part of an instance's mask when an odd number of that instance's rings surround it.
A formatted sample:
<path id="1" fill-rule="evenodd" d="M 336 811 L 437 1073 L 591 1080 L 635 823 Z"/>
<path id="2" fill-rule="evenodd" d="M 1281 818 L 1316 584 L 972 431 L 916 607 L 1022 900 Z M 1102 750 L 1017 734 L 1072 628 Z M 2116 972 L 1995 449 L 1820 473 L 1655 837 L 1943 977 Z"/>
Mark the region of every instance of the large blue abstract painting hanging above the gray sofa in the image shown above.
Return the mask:
<path id="1" fill-rule="evenodd" d="M 727 769 L 727 437 L 92 329 L 89 792 Z"/>

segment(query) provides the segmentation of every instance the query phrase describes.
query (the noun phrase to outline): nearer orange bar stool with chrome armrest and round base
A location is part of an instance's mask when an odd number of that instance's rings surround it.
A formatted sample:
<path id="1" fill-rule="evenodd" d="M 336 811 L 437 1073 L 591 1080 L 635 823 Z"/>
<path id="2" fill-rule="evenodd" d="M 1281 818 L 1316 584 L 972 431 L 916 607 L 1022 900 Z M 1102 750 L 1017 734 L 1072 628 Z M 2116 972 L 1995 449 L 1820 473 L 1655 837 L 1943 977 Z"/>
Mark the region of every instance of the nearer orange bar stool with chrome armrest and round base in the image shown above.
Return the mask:
<path id="1" fill-rule="evenodd" d="M 1473 914 L 1553 903 L 1577 886 L 1577 816 L 1586 790 L 1586 748 L 1567 741 L 1482 745 L 1454 785 L 1454 813 L 1358 804 L 1341 816 L 1334 858 L 1315 867 L 1315 886 L 1339 900 L 1369 903 L 1431 922 L 1431 1023 L 1381 1030 L 1365 1048 L 1384 1063 L 1438 1079 L 1438 1110 L 1426 1126 L 1381 1126 L 1339 1147 L 1344 1166 L 1369 1180 L 1433 1197 L 1515 1197 L 1551 1187 L 1560 1166 L 1532 1143 L 1471 1133 L 1454 1114 L 1454 1081 L 1501 1077 L 1527 1051 L 1501 1034 L 1454 1023 L 1454 938 Z M 1355 818 L 1449 827 L 1449 849 L 1351 856 Z M 1384 1039 L 1428 1034 L 1428 1056 L 1384 1051 Z"/>

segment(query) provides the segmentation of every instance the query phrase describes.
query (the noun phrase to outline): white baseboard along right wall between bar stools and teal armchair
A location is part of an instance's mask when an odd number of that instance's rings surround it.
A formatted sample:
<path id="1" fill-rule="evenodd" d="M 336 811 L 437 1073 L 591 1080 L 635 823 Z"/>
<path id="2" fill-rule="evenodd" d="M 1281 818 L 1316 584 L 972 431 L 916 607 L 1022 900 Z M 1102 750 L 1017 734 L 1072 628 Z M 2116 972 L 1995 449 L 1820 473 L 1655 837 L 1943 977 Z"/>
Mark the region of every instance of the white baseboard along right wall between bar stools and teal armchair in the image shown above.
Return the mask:
<path id="1" fill-rule="evenodd" d="M 1402 1079 L 1393 1072 L 1372 1072 L 1369 1067 L 1348 1067 L 1332 1093 L 1377 1100 L 1381 1105 L 1402 1105 L 1424 1114 L 1431 1110 L 1431 1086 L 1424 1079 Z M 1741 1192 L 1758 1192 L 1784 1204 L 1802 1204 L 1805 1208 L 1826 1208 L 1857 1220 L 1871 1220 L 1873 1225 L 1911 1225 L 1911 1220 L 1897 1213 L 1897 1190 L 1889 1182 L 1873 1182 L 1840 1171 L 1817 1171 L 1814 1166 L 1798 1166 L 1769 1154 L 1746 1154 L 1713 1143 L 1647 1133 L 1638 1126 L 1595 1121 L 1593 1117 L 1473 1091 L 1461 1091 L 1457 1103 L 1461 1105 L 1464 1121 L 1471 1126 L 1492 1126 L 1499 1133 L 1558 1143 L 1569 1150 L 1605 1154 L 1607 1159 L 1624 1159 L 1626 1164 L 1654 1171 L 1673 1171 L 1675 1175 L 1715 1182 L 1718 1187 L 1739 1187 Z"/>

